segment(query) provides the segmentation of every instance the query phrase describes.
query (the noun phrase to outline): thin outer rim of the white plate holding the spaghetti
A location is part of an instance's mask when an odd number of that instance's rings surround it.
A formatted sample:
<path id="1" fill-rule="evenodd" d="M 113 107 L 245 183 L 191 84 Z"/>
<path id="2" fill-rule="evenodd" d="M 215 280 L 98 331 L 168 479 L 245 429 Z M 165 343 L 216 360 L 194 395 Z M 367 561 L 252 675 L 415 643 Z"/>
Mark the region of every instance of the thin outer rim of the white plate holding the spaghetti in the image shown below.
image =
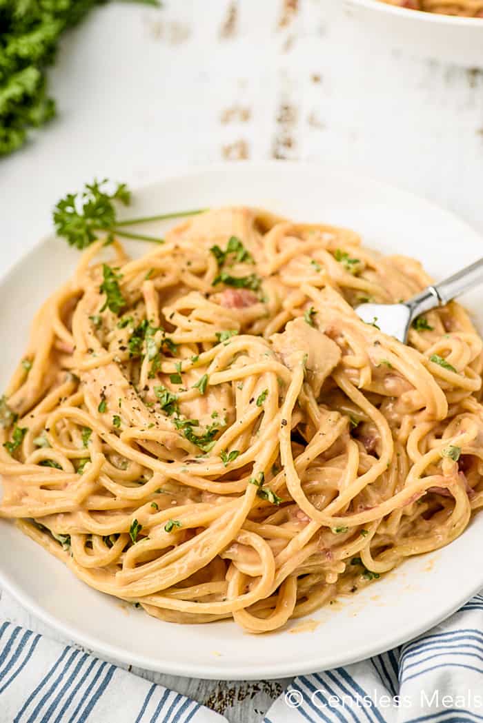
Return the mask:
<path id="1" fill-rule="evenodd" d="M 452 218 L 453 220 L 458 221 L 461 228 L 466 228 L 466 230 L 471 236 L 478 236 L 480 240 L 482 239 L 479 231 L 476 231 L 476 229 L 472 228 L 469 223 L 467 223 L 464 219 L 460 218 L 457 214 L 445 208 L 442 208 L 436 202 L 428 200 L 426 197 L 416 194 L 411 190 L 405 189 L 403 187 L 398 187 L 395 184 L 387 183 L 386 181 L 383 181 L 381 179 L 377 179 L 374 176 L 360 174 L 357 169 L 354 169 L 348 164 L 340 165 L 336 163 L 322 162 L 311 163 L 306 161 L 239 161 L 236 163 L 205 163 L 196 166 L 190 166 L 189 168 L 181 167 L 172 170 L 167 174 L 159 176 L 159 178 L 156 180 L 149 181 L 148 183 L 142 184 L 140 186 L 135 186 L 133 187 L 133 195 L 143 194 L 143 192 L 145 192 L 147 189 L 156 187 L 157 185 L 167 184 L 169 183 L 169 181 L 182 181 L 183 179 L 192 179 L 193 177 L 202 176 L 203 174 L 210 174 L 213 172 L 216 173 L 222 170 L 224 171 L 227 168 L 230 168 L 230 173 L 238 173 L 238 168 L 248 168 L 255 173 L 259 169 L 273 169 L 280 168 L 280 166 L 296 167 L 302 170 L 306 169 L 306 171 L 308 171 L 309 173 L 312 172 L 315 174 L 318 174 L 323 170 L 324 173 L 328 172 L 329 174 L 337 174 L 337 176 L 340 177 L 350 174 L 353 179 L 356 179 L 361 183 L 363 183 L 364 181 L 370 181 L 371 184 L 375 187 L 391 190 L 397 192 L 398 194 L 404 194 L 406 195 L 408 200 L 414 200 L 415 202 L 424 202 L 424 205 L 427 208 L 432 208 L 432 210 L 437 211 L 437 213 L 440 214 L 441 218 L 446 215 L 448 218 Z M 33 244 L 33 246 L 25 249 L 25 251 L 20 255 L 20 257 L 12 265 L 9 265 L 9 267 L 4 270 L 4 273 L 0 274 L 0 286 L 6 283 L 9 276 L 14 275 L 14 273 L 16 273 L 22 263 L 25 262 L 25 260 L 27 260 L 31 254 L 35 253 L 35 251 L 38 251 L 38 249 L 47 241 L 49 241 L 49 239 L 51 239 L 53 235 L 54 233 L 51 230 L 50 233 L 43 234 L 38 239 L 38 241 Z M 13 521 L 9 520 L 2 520 L 2 523 L 3 522 L 14 524 Z M 451 604 L 446 604 L 443 608 L 440 608 L 440 612 L 438 613 L 438 615 L 432 617 L 432 622 L 429 625 L 427 622 L 421 623 L 420 625 L 415 625 L 410 638 L 408 638 L 407 634 L 404 633 L 398 635 L 397 630 L 395 630 L 395 633 L 390 638 L 389 644 L 386 639 L 385 643 L 382 645 L 377 644 L 377 641 L 374 642 L 372 645 L 366 644 L 366 646 L 364 647 L 364 651 L 356 650 L 353 654 L 347 654 L 347 652 L 341 652 L 338 655 L 335 654 L 331 662 L 331 667 L 339 667 L 340 665 L 348 665 L 359 662 L 363 659 L 367 659 L 371 656 L 392 649 L 393 647 L 407 642 L 408 640 L 417 638 L 419 635 L 421 635 L 421 633 L 424 633 L 426 630 L 434 627 L 434 625 L 438 625 L 443 620 L 447 619 L 450 615 L 452 615 L 455 610 L 459 609 L 465 602 L 471 599 L 471 597 L 474 596 L 474 594 L 476 594 L 476 592 L 478 592 L 482 588 L 482 585 L 483 573 L 482 580 L 474 584 L 473 588 L 471 589 L 471 594 L 468 594 L 468 587 L 466 587 L 466 591 L 464 594 L 459 595 L 456 600 L 453 597 Z M 84 646 L 91 651 L 94 651 L 95 654 L 100 654 L 101 656 L 105 656 L 108 659 L 112 659 L 113 662 L 132 664 L 136 667 L 148 670 L 156 670 L 157 672 L 161 672 L 167 675 L 176 675 L 180 677 L 196 677 L 205 680 L 271 680 L 277 678 L 280 679 L 282 677 L 305 675 L 311 672 L 319 671 L 321 669 L 327 669 L 327 666 L 324 667 L 323 663 L 321 667 L 321 663 L 317 662 L 317 659 L 314 657 L 312 657 L 308 661 L 301 662 L 300 660 L 298 660 L 290 664 L 287 662 L 282 662 L 280 664 L 277 664 L 277 662 L 271 662 L 270 664 L 255 663 L 253 664 L 252 669 L 247 669 L 245 667 L 245 664 L 241 665 L 240 667 L 230 666 L 230 669 L 228 669 L 228 671 L 222 658 L 220 658 L 219 664 L 217 664 L 217 662 L 214 662 L 210 665 L 209 669 L 203 669 L 203 664 L 200 662 L 190 662 L 189 657 L 183 662 L 170 662 L 168 657 L 165 659 L 154 659 L 140 653 L 127 651 L 127 649 L 117 647 L 112 643 L 106 641 L 99 641 L 95 637 L 91 636 L 90 633 L 85 633 L 82 628 L 77 627 L 75 623 L 64 623 L 64 621 L 58 620 L 55 615 L 53 615 L 47 609 L 44 609 L 40 604 L 38 604 L 28 591 L 22 589 L 20 583 L 17 583 L 14 578 L 11 578 L 8 572 L 3 570 L 1 566 L 1 560 L 0 586 L 3 586 L 4 589 L 6 589 L 7 592 L 11 594 L 12 597 L 18 603 L 20 603 L 20 605 L 22 605 L 22 607 L 28 609 L 30 613 L 32 613 L 39 620 L 43 621 L 43 623 L 50 625 L 51 628 L 54 628 L 56 631 L 61 633 L 62 636 L 67 639 L 67 641 L 75 641 L 81 646 Z"/>

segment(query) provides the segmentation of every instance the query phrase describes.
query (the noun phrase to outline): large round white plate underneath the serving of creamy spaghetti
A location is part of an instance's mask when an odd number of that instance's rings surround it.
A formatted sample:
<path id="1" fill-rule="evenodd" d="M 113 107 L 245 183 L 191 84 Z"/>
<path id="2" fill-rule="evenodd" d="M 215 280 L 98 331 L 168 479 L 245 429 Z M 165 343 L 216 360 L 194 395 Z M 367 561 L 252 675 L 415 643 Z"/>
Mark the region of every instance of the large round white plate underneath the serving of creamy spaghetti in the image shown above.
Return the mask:
<path id="1" fill-rule="evenodd" d="M 411 194 L 326 166 L 246 163 L 200 168 L 135 194 L 130 215 L 223 204 L 259 205 L 300 221 L 343 224 L 361 231 L 370 247 L 421 258 L 436 278 L 473 261 L 482 239 L 453 215 Z M 12 239 L 14 243 L 15 239 Z M 139 253 L 143 249 L 133 244 Z M 22 354 L 31 317 L 67 278 L 78 254 L 47 239 L 0 285 L 0 382 Z M 480 301 L 478 304 L 477 302 Z M 483 291 L 468 296 L 479 308 Z M 392 648 L 440 622 L 483 586 L 474 551 L 483 515 L 453 544 L 408 560 L 361 594 L 291 623 L 252 636 L 230 622 L 162 623 L 94 591 L 62 562 L 0 521 L 0 584 L 25 607 L 99 654 L 140 667 L 216 679 L 283 677 L 348 664 Z M 298 634 L 294 634 L 298 633 Z"/>

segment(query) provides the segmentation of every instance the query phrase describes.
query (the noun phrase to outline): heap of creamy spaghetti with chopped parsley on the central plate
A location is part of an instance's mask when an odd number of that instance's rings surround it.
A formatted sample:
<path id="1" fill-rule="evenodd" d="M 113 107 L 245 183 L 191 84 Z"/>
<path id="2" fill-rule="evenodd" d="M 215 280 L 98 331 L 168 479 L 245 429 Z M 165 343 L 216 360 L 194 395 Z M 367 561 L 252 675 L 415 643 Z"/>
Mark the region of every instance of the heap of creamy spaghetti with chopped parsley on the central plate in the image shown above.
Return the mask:
<path id="1" fill-rule="evenodd" d="M 408 345 L 353 311 L 429 281 L 252 208 L 140 259 L 96 241 L 2 400 L 0 515 L 154 617 L 251 633 L 443 547 L 482 505 L 482 339 L 455 303 Z"/>

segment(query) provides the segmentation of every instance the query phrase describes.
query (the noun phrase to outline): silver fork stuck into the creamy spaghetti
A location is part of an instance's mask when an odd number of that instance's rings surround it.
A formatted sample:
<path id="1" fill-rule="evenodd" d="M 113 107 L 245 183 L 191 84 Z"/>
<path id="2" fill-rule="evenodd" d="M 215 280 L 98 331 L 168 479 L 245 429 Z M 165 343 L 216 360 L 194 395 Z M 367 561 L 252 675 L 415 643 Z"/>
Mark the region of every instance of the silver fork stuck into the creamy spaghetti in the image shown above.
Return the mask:
<path id="1" fill-rule="evenodd" d="M 469 291 L 483 281 L 483 258 L 466 266 L 457 273 L 434 286 L 428 286 L 420 294 L 401 304 L 361 304 L 356 314 L 366 324 L 374 324 L 381 331 L 406 342 L 412 322 L 430 309 L 442 307 L 448 301 Z"/>

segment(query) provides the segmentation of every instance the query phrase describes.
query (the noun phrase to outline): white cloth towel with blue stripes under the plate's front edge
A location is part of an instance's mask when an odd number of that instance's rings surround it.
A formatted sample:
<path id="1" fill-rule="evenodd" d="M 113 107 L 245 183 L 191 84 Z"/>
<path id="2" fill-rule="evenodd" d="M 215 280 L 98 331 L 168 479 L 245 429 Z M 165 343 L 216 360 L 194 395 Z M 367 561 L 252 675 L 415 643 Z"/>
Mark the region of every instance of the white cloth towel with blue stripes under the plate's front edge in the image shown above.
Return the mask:
<path id="1" fill-rule="evenodd" d="M 224 720 L 189 698 L 80 650 L 12 623 L 0 625 L 0 723 Z M 476 721 L 483 722 L 482 594 L 416 641 L 345 668 L 296 678 L 264 719 L 264 723 Z"/>

